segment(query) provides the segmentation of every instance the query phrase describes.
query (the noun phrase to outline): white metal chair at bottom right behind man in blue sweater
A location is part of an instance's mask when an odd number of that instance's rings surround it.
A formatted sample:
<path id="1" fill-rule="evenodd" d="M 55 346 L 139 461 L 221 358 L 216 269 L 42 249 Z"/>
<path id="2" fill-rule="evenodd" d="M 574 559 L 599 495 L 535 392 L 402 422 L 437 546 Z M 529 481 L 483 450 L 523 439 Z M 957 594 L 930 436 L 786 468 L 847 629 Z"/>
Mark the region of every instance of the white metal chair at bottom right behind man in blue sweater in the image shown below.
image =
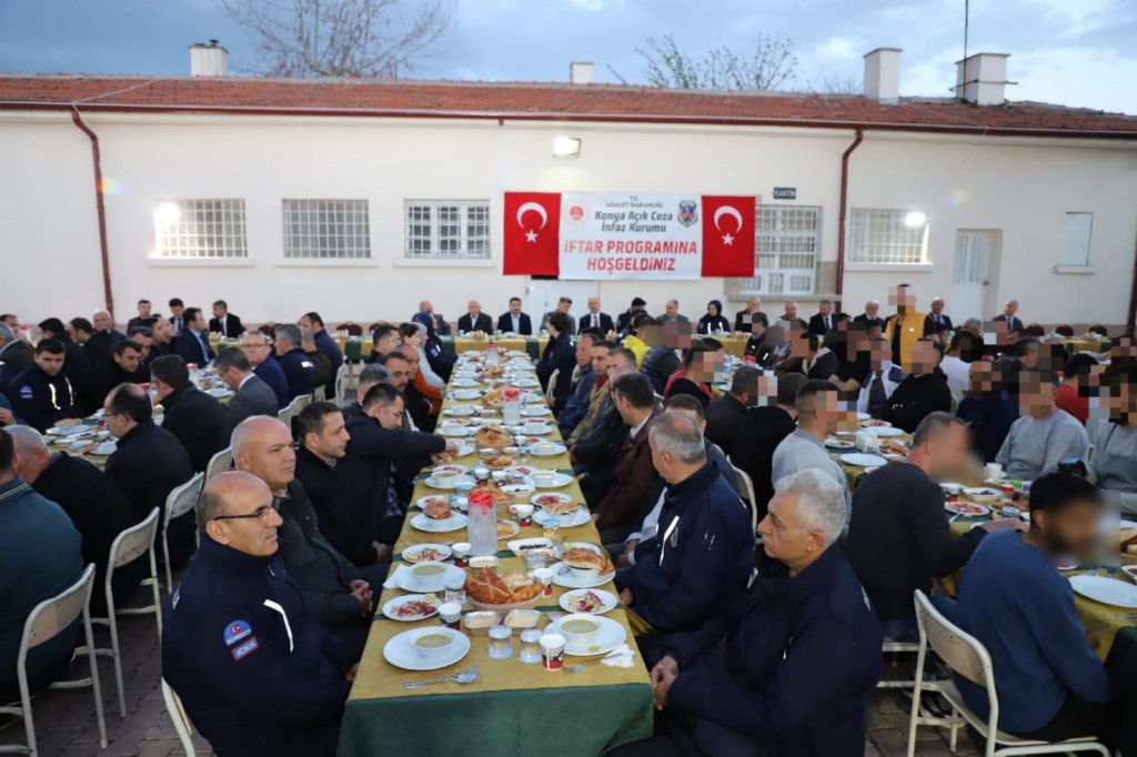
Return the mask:
<path id="1" fill-rule="evenodd" d="M 953 624 L 932 606 L 931 600 L 919 589 L 915 591 L 916 624 L 920 627 L 920 654 L 916 657 L 916 682 L 912 696 L 912 714 L 908 718 L 908 757 L 913 757 L 916 747 L 916 726 L 947 725 L 952 730 L 949 748 L 955 751 L 956 731 L 966 722 L 979 731 L 986 741 L 986 757 L 1003 757 L 1004 755 L 1056 755 L 1068 752 L 1094 752 L 1110 757 L 1110 751 L 1090 737 L 1070 739 L 1059 743 L 1020 739 L 998 730 L 998 697 L 995 692 L 995 673 L 991 668 L 991 657 L 987 648 L 978 639 L 965 633 Z M 940 659 L 952 669 L 976 685 L 987 690 L 987 701 L 990 702 L 990 714 L 986 719 L 973 713 L 963 701 L 954 683 L 936 687 L 952 705 L 952 718 L 931 718 L 920 708 L 920 694 L 928 690 L 923 681 L 924 659 L 931 647 Z"/>

